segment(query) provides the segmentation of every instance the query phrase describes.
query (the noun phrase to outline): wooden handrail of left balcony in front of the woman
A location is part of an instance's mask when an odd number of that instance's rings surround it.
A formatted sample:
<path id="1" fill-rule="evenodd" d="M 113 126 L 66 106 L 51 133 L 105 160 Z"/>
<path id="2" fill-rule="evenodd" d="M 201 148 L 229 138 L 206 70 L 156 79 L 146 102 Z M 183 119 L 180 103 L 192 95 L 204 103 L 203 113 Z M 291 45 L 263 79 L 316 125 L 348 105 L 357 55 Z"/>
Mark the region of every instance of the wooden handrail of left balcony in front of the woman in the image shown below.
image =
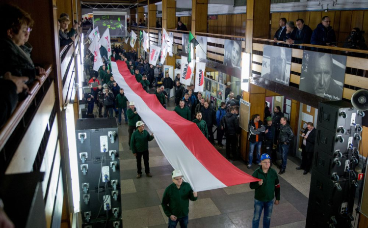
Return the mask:
<path id="1" fill-rule="evenodd" d="M 4 147 L 5 143 L 7 142 L 11 134 L 14 132 L 15 126 L 17 126 L 18 123 L 22 120 L 24 114 L 26 113 L 26 110 L 33 102 L 41 86 L 48 79 L 51 71 L 52 71 L 52 65 L 48 65 L 46 67 L 46 75 L 40 76 L 40 79 L 35 81 L 35 83 L 29 89 L 30 94 L 26 97 L 25 100 L 18 103 L 13 114 L 6 121 L 5 125 L 2 127 L 1 132 L 0 132 L 0 150 Z"/>

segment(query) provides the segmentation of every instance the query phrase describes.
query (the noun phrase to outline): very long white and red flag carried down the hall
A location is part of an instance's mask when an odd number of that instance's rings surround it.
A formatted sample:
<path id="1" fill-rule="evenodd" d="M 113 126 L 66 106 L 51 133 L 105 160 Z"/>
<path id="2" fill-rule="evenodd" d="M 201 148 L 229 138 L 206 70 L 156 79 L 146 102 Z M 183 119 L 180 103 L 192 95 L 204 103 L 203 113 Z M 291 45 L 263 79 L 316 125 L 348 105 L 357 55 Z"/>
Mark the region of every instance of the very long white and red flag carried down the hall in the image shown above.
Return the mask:
<path id="1" fill-rule="evenodd" d="M 147 93 L 131 75 L 124 61 L 111 62 L 114 79 L 154 133 L 158 146 L 174 169 L 194 191 L 205 191 L 249 183 L 259 179 L 239 170 L 205 138 L 195 123 L 168 111 L 156 95 Z"/>

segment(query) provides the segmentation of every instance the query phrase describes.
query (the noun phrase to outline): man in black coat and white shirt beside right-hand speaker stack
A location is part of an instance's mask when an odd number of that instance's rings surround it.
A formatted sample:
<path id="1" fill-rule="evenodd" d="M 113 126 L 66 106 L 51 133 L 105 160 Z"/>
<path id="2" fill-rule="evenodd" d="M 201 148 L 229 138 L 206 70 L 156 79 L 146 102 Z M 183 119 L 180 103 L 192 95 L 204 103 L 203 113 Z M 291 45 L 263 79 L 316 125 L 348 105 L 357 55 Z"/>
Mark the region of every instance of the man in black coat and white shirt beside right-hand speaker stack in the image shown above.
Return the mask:
<path id="1" fill-rule="evenodd" d="M 315 148 L 315 128 L 312 122 L 307 123 L 304 130 L 302 143 L 302 165 L 297 170 L 304 170 L 303 175 L 307 174 L 312 166 L 313 153 Z"/>

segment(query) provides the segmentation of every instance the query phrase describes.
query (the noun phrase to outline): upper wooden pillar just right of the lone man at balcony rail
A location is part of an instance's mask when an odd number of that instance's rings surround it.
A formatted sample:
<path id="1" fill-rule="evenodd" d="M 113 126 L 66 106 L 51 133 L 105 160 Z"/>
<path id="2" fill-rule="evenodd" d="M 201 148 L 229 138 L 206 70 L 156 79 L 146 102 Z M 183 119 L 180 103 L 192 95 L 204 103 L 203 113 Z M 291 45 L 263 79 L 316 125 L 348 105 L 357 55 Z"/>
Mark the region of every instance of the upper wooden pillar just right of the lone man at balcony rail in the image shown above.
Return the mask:
<path id="1" fill-rule="evenodd" d="M 207 12 L 208 12 L 208 0 L 192 0 L 192 28 L 193 36 L 195 32 L 207 32 Z"/>

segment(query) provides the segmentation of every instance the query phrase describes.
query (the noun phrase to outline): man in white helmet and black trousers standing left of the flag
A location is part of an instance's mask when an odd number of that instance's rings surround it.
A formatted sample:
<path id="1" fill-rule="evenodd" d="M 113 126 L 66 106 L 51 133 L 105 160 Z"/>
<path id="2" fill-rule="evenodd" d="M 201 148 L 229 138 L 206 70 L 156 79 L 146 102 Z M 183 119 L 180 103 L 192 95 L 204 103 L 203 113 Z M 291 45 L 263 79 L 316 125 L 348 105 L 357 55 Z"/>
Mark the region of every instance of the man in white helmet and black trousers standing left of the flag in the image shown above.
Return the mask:
<path id="1" fill-rule="evenodd" d="M 150 173 L 150 163 L 148 162 L 148 142 L 154 139 L 153 134 L 149 134 L 144 130 L 144 123 L 138 121 L 135 126 L 138 131 L 131 135 L 131 152 L 137 159 L 137 178 L 142 176 L 142 155 L 146 176 L 152 177 Z"/>

